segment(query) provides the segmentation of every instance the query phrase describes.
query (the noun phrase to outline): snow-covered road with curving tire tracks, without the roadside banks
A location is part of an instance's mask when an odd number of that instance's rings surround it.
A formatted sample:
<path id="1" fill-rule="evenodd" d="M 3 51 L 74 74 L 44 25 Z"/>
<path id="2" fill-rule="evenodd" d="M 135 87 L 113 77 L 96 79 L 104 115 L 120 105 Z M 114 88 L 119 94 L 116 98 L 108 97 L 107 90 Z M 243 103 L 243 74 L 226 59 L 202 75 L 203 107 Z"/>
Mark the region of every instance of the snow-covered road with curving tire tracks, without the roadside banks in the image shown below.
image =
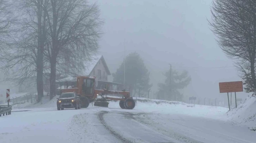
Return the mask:
<path id="1" fill-rule="evenodd" d="M 200 116 L 97 107 L 14 111 L 0 117 L 1 143 L 256 142 L 255 131 Z"/>

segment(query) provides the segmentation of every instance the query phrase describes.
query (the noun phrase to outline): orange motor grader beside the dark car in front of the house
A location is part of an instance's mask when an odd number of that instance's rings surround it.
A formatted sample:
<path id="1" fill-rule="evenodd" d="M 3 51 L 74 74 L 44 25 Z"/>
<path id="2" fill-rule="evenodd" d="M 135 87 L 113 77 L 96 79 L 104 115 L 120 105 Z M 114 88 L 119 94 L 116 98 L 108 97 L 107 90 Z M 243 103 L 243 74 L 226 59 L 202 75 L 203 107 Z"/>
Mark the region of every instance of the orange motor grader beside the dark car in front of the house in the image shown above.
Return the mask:
<path id="1" fill-rule="evenodd" d="M 91 102 L 94 102 L 95 106 L 108 107 L 111 100 L 119 100 L 122 109 L 133 109 L 135 107 L 135 101 L 130 97 L 130 92 L 125 90 L 100 90 L 96 89 L 96 84 L 97 79 L 94 76 L 78 76 L 77 87 L 62 89 L 61 93 L 76 92 L 80 96 L 82 108 L 87 108 Z M 118 98 L 115 95 L 118 95 L 118 97 L 121 95 L 122 97 Z"/>

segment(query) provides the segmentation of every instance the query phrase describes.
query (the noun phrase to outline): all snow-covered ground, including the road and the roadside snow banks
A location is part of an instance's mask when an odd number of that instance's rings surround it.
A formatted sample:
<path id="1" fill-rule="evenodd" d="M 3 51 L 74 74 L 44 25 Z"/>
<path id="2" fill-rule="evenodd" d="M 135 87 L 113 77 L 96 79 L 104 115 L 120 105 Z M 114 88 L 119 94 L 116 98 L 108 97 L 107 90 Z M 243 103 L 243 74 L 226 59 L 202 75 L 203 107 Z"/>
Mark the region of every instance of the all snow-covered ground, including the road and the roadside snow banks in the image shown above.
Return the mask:
<path id="1" fill-rule="evenodd" d="M 119 102 L 112 101 L 109 108 L 90 104 L 86 109 L 57 111 L 56 98 L 44 99 L 14 107 L 12 115 L 0 117 L 0 142 L 255 143 L 256 131 L 246 127 L 255 120 L 240 118 L 255 113 L 255 98 L 247 101 L 229 112 L 223 107 L 145 98 L 137 99 L 133 110 L 120 109 Z M 239 120 L 244 124 L 234 124 Z"/>

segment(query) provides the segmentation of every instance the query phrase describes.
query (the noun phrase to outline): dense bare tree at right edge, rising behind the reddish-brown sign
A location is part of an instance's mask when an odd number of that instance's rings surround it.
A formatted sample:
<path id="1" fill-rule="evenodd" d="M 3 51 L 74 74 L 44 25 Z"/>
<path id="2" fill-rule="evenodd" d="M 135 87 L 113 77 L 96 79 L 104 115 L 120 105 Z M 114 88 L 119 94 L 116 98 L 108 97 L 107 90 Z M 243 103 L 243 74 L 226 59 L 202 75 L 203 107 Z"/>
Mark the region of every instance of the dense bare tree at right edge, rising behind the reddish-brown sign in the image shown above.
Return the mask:
<path id="1" fill-rule="evenodd" d="M 235 59 L 242 77 L 249 77 L 250 89 L 256 91 L 256 1 L 213 0 L 212 31 L 223 52 Z M 244 78 L 245 79 L 245 78 Z M 245 79 L 246 80 L 246 79 Z M 252 90 L 247 90 L 248 92 Z"/>

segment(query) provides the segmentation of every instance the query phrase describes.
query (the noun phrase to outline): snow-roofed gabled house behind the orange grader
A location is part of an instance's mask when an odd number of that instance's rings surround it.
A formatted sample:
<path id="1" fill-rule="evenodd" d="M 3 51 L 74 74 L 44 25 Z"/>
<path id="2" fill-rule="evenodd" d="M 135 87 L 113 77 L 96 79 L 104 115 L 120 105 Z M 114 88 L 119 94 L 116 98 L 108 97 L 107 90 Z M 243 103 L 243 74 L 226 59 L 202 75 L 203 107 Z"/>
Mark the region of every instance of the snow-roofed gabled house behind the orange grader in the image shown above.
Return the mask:
<path id="1" fill-rule="evenodd" d="M 108 65 L 103 55 L 94 56 L 91 61 L 85 63 L 85 70 L 83 72 L 85 76 L 95 76 L 97 78 L 96 89 L 108 89 L 108 90 L 122 90 L 123 84 L 108 81 L 108 76 L 111 75 Z M 56 80 L 58 89 L 56 93 L 60 93 L 60 89 L 76 87 L 76 76 L 63 77 Z"/>

